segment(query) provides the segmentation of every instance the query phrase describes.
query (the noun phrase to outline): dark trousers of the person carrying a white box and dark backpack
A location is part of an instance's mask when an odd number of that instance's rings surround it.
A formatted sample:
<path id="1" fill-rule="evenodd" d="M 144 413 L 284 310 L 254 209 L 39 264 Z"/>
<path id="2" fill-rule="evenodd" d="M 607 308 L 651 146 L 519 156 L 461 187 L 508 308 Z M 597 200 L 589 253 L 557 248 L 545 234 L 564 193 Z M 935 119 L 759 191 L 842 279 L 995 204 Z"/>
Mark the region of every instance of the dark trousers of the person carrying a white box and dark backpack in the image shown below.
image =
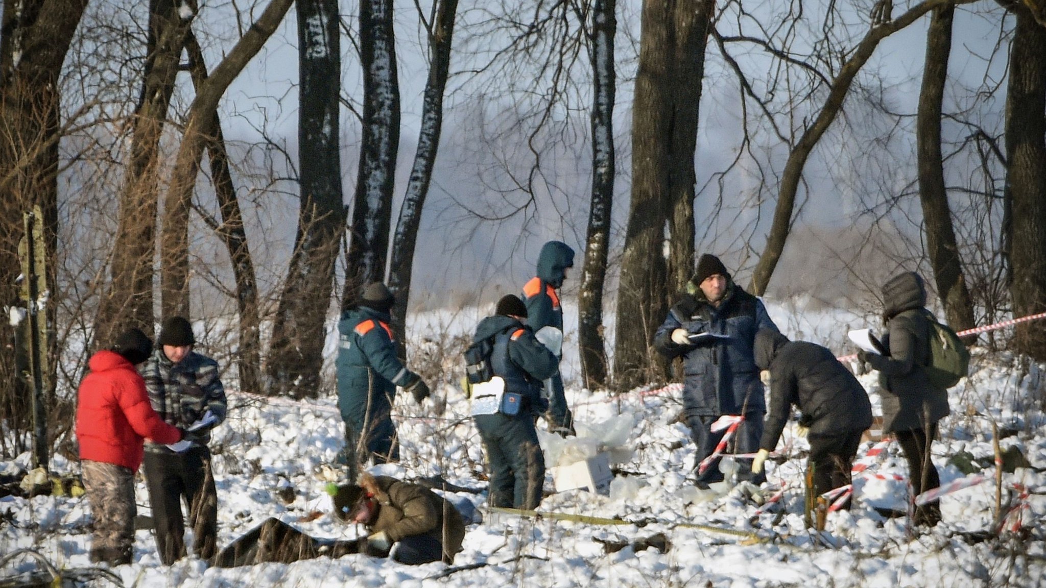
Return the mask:
<path id="1" fill-rule="evenodd" d="M 492 506 L 532 510 L 541 503 L 545 457 L 529 414 L 477 414 L 476 428 L 486 449 Z"/>

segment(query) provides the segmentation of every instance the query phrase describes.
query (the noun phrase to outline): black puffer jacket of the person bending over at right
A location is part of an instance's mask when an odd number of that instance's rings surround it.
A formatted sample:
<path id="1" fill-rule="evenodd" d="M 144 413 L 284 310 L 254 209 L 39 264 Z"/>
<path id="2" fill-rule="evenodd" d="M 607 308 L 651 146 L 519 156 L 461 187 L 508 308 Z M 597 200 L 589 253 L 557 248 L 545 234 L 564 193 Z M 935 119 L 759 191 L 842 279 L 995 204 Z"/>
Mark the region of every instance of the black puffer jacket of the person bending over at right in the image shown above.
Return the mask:
<path id="1" fill-rule="evenodd" d="M 792 405 L 799 407 L 799 422 L 810 427 L 812 437 L 871 426 L 864 387 L 826 347 L 760 330 L 755 334 L 755 365 L 770 370 L 770 407 L 759 448 L 777 447 Z"/>

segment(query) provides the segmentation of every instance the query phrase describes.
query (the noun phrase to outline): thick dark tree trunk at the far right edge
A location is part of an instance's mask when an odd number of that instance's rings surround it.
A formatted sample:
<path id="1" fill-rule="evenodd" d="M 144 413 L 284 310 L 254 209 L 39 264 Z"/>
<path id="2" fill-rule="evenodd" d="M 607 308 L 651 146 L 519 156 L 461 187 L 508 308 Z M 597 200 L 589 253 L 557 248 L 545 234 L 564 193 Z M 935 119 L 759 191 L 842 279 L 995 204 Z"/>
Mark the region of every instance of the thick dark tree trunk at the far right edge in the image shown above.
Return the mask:
<path id="1" fill-rule="evenodd" d="M 1010 228 L 1017 316 L 1046 311 L 1046 27 L 1021 4 L 1007 6 L 1017 17 L 1009 49 L 1006 94 L 1006 184 L 1013 201 Z M 1017 326 L 1015 347 L 1046 360 L 1046 329 Z"/>

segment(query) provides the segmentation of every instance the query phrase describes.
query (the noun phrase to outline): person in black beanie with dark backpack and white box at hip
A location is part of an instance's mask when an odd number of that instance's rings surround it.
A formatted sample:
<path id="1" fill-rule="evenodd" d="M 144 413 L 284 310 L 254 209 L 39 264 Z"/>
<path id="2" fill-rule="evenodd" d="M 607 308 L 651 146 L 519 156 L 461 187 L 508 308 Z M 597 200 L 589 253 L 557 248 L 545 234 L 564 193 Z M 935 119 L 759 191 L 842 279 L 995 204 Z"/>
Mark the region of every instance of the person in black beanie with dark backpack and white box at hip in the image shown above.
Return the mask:
<path id="1" fill-rule="evenodd" d="M 472 415 L 486 450 L 492 506 L 536 508 L 545 482 L 535 421 L 548 407 L 542 382 L 559 370 L 559 358 L 538 341 L 527 320 L 523 301 L 508 294 L 473 336 L 474 343 L 491 341 L 492 384 L 500 387 L 483 398 L 477 386 L 472 397 Z"/>

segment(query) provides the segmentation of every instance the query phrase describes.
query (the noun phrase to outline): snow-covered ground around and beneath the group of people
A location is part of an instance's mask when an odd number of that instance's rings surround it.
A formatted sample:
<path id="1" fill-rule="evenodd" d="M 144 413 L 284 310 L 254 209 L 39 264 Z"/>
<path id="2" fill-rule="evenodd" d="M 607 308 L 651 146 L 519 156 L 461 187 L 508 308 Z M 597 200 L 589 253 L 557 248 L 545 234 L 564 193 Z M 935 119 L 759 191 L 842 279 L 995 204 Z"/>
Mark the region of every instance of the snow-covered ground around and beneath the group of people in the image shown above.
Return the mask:
<path id="1" fill-rule="evenodd" d="M 569 306 L 568 306 L 569 309 Z M 771 306 L 771 315 L 791 336 L 800 331 L 808 340 L 829 344 L 812 325 L 840 324 L 859 317 L 811 316 L 798 320 L 790 309 Z M 465 315 L 470 316 L 465 316 Z M 475 316 L 473 316 L 475 314 Z M 435 313 L 412 324 L 418 341 L 414 354 L 442 345 L 449 337 L 475 324 L 478 311 L 453 318 Z M 568 324 L 576 321 L 567 317 Z M 855 326 L 858 324 L 855 323 Z M 838 327 L 836 327 L 838 329 Z M 426 338 L 427 342 L 422 342 Z M 568 338 L 567 348 L 571 346 Z M 575 346 L 575 344 L 574 344 Z M 333 345 L 329 346 L 333 353 Z M 567 356 L 568 363 L 576 358 Z M 576 367 L 566 369 L 576 372 Z M 987 357 L 975 352 L 970 378 L 951 390 L 952 415 L 941 423 L 941 439 L 933 458 L 948 483 L 964 477 L 960 454 L 973 471 L 988 481 L 960 490 L 941 500 L 943 523 L 933 529 L 910 529 L 906 519 L 885 518 L 877 510 L 905 510 L 904 481 L 858 478 L 856 501 L 849 513 L 832 513 L 826 529 L 817 534 L 803 525 L 801 485 L 805 439 L 786 431 L 778 462 L 770 465 L 771 484 L 783 487 L 779 503 L 761 511 L 744 488 L 708 499 L 687 480 L 692 446 L 686 428 L 675 423 L 681 407 L 680 386 L 642 388 L 612 397 L 568 385 L 575 419 L 605 432 L 609 420 L 631 413 L 636 424 L 628 447 L 632 458 L 614 466 L 611 496 L 568 491 L 548 496 L 540 519 L 490 513 L 485 494 L 458 493 L 452 498 L 478 506 L 483 521 L 471 524 L 464 550 L 454 566 L 439 563 L 404 566 L 364 556 L 339 560 L 317 559 L 291 565 L 218 569 L 188 558 L 165 567 L 159 563 L 151 532 L 139 530 L 134 563 L 112 571 L 124 586 L 1043 586 L 1046 585 L 1046 399 L 1034 382 L 1041 369 L 1026 375 L 1005 354 Z M 452 381 L 448 377 L 447 381 Z M 878 413 L 873 375 L 861 377 Z M 1032 392 L 1030 390 L 1039 390 Z M 459 390 L 442 384 L 437 395 L 446 410 L 426 401 L 397 404 L 403 461 L 376 468 L 376 473 L 402 478 L 431 475 L 468 488 L 485 488 L 479 436 L 468 415 L 468 401 Z M 1002 502 L 1024 484 L 1028 505 L 1021 530 L 984 539 L 996 516 L 993 423 L 1002 450 L 1017 448 L 1030 468 L 1002 476 Z M 219 544 L 224 546 L 268 517 L 322 538 L 353 538 L 362 529 L 331 516 L 323 492 L 324 465 L 341 448 L 341 422 L 333 398 L 315 402 L 259 399 L 230 391 L 229 419 L 214 431 L 214 471 L 220 501 Z M 597 433 L 598 434 L 598 433 Z M 871 447 L 861 448 L 860 455 Z M 786 458 L 787 457 L 787 458 Z M 955 462 L 953 462 L 955 461 Z M 29 455 L 0 461 L 0 474 L 25 470 Z M 747 467 L 747 462 L 743 462 Z M 78 465 L 56 457 L 55 473 L 74 473 Z M 907 468 L 890 445 L 869 470 L 905 476 Z M 967 471 L 971 471 L 967 468 Z M 553 488 L 549 474 L 545 488 Z M 290 489 L 290 490 L 287 490 Z M 281 498 L 293 491 L 293 501 Z M 772 490 L 759 494 L 770 496 Z M 149 514 L 144 482 L 137 487 L 139 514 Z M 622 519 L 639 524 L 562 520 L 555 514 Z M 479 517 L 477 517 L 478 520 Z M 1013 520 L 1010 521 L 1013 522 Z M 82 498 L 38 496 L 0 499 L 0 557 L 19 548 L 33 548 L 58 568 L 83 568 L 88 562 L 90 512 Z M 663 534 L 665 552 L 639 549 L 638 540 Z M 611 550 L 605 543 L 627 543 Z M 0 578 L 39 567 L 19 557 L 0 568 Z"/>

